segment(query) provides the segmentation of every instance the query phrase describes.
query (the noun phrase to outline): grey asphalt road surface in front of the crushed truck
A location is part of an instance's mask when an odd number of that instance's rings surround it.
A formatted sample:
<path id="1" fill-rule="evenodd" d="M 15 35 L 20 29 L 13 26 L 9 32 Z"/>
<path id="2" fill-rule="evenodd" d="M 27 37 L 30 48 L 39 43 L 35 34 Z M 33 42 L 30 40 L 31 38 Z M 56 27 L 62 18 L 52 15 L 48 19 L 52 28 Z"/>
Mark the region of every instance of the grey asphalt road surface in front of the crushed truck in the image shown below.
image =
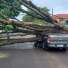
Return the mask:
<path id="1" fill-rule="evenodd" d="M 3 47 L 0 48 L 0 68 L 68 68 L 68 51 L 46 51 L 27 45 L 21 49 Z"/>

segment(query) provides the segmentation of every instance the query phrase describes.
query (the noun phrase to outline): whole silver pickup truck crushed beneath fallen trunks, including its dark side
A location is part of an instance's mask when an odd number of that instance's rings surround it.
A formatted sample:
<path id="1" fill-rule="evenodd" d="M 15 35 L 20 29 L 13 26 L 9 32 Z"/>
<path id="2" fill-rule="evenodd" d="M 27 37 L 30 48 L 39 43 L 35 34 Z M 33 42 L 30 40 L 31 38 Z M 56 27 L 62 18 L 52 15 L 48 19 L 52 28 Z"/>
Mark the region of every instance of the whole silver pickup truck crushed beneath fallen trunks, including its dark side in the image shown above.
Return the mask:
<path id="1" fill-rule="evenodd" d="M 51 33 L 44 37 L 44 40 L 35 42 L 38 48 L 56 48 L 66 51 L 68 45 L 68 34 Z"/>

